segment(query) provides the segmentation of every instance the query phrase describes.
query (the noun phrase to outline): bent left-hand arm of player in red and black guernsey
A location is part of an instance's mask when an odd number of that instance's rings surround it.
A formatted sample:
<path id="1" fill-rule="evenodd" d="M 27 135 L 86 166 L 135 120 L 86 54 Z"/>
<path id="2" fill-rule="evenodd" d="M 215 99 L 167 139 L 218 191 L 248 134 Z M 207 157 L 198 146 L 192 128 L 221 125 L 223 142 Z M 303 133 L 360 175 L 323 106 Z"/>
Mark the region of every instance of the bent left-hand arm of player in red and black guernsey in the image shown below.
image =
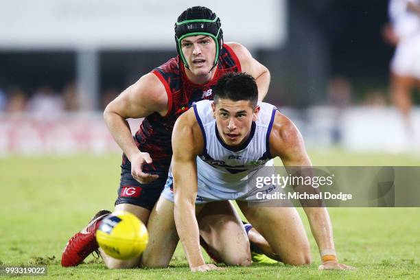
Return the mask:
<path id="1" fill-rule="evenodd" d="M 152 163 L 147 152 L 141 152 L 132 139 L 126 119 L 146 117 L 154 112 L 165 115 L 168 110 L 165 87 L 152 73 L 143 75 L 104 110 L 104 119 L 113 138 L 132 163 L 132 176 L 140 183 L 149 183 L 157 175 L 145 174 L 143 163 Z"/>

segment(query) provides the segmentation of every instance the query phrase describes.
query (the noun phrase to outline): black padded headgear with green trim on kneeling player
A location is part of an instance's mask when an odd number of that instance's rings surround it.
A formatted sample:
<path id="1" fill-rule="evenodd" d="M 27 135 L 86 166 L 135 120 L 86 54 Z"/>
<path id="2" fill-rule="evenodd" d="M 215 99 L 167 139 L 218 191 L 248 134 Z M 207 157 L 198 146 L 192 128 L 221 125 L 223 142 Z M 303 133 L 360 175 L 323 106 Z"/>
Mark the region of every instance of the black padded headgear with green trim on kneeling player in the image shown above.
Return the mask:
<path id="1" fill-rule="evenodd" d="M 176 51 L 183 60 L 185 67 L 189 68 L 181 49 L 181 40 L 187 36 L 205 35 L 213 38 L 216 45 L 216 54 L 213 62 L 213 69 L 217 64 L 222 49 L 223 31 L 220 19 L 209 8 L 196 6 L 188 8 L 175 23 Z M 211 71 L 210 69 L 210 71 Z"/>

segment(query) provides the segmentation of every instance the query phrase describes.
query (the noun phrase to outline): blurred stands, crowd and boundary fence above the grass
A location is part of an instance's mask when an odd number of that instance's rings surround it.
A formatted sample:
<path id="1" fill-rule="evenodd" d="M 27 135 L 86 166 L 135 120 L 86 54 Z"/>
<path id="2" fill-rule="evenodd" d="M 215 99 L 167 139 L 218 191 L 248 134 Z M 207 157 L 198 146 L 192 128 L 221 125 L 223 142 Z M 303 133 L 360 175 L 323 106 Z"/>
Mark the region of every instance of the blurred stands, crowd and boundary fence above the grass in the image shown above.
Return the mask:
<path id="1" fill-rule="evenodd" d="M 268 67 L 265 101 L 308 148 L 419 154 L 419 90 L 410 132 L 391 103 L 385 0 L 0 1 L 0 154 L 119 151 L 102 110 L 176 56 L 174 23 L 192 5 Z"/>

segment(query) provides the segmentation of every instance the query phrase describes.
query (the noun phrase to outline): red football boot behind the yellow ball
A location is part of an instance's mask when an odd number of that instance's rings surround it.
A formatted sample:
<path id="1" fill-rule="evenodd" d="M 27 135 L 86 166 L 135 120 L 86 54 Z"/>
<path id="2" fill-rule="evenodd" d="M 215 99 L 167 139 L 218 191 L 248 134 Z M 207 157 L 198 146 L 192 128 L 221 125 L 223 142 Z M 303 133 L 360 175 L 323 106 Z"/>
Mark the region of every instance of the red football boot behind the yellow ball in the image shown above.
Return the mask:
<path id="1" fill-rule="evenodd" d="M 99 246 L 95 238 L 96 230 L 100 225 L 100 221 L 110 213 L 108 210 L 98 211 L 82 231 L 70 238 L 62 252 L 62 266 L 78 266 L 90 253 L 97 251 Z"/>

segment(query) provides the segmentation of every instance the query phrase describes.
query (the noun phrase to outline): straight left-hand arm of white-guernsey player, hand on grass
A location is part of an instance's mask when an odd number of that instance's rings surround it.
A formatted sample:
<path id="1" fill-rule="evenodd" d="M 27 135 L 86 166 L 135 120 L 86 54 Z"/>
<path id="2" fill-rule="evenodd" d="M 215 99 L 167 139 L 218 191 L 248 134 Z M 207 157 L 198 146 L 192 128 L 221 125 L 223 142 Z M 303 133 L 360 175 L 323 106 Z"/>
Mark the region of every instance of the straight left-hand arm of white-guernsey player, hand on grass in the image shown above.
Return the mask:
<path id="1" fill-rule="evenodd" d="M 193 272 L 215 269 L 213 264 L 207 265 L 202 257 L 196 219 L 196 157 L 202 152 L 204 140 L 193 109 L 188 110 L 176 121 L 172 133 L 172 147 L 175 224 L 189 267 Z"/>

